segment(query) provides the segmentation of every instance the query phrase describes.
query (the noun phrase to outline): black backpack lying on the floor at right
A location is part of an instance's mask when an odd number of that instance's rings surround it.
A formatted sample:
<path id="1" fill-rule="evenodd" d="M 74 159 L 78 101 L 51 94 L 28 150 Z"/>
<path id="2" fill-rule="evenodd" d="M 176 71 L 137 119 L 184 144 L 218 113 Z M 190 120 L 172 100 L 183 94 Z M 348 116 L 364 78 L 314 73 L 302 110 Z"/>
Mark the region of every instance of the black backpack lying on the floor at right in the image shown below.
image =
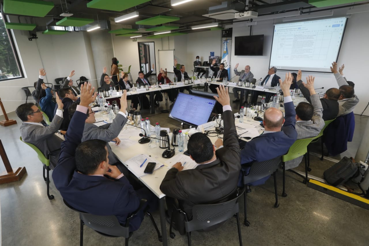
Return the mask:
<path id="1" fill-rule="evenodd" d="M 337 186 L 350 180 L 358 171 L 358 166 L 350 158 L 341 161 L 324 171 L 324 179 L 328 184 Z"/>

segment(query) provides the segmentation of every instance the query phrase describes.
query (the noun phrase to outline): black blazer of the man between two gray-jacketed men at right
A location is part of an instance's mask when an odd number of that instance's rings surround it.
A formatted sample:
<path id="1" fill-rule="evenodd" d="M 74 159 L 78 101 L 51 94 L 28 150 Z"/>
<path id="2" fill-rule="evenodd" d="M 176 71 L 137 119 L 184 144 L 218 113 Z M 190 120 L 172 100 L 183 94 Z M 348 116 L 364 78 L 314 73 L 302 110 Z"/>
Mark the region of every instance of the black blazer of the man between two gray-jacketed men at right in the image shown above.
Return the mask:
<path id="1" fill-rule="evenodd" d="M 304 95 L 304 98 L 308 100 L 308 102 L 311 103 L 310 100 L 310 92 L 309 90 L 302 84 L 302 80 L 297 81 L 297 85 L 299 86 L 299 89 L 301 90 L 302 95 Z M 339 111 L 339 105 L 338 100 L 333 99 L 327 99 L 327 98 L 321 98 L 320 102 L 323 106 L 323 120 L 333 120 L 338 115 Z"/>

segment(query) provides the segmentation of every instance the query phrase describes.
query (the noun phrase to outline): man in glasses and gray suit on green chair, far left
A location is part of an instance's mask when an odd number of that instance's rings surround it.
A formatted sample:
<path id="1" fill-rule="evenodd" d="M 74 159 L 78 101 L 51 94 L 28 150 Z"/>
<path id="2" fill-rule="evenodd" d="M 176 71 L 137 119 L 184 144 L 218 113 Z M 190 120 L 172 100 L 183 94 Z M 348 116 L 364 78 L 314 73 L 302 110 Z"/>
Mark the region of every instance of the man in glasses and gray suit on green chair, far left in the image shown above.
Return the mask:
<path id="1" fill-rule="evenodd" d="M 50 126 L 44 126 L 42 122 L 42 111 L 34 103 L 24 103 L 17 107 L 15 113 L 23 121 L 20 132 L 23 141 L 36 146 L 47 156 L 48 153 L 58 150 L 61 147 L 62 139 L 55 135 L 59 130 L 63 120 L 63 103 L 56 93 L 56 103 L 58 109 Z M 59 151 L 50 156 L 50 168 L 54 169 L 58 164 Z"/>

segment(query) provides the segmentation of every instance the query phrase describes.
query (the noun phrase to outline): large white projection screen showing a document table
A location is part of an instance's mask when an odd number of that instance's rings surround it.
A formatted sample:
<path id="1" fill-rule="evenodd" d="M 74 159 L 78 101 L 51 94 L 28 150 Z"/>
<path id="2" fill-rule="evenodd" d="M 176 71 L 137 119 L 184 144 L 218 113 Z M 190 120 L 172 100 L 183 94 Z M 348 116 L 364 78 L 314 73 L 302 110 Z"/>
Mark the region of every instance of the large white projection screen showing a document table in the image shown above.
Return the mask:
<path id="1" fill-rule="evenodd" d="M 276 24 L 269 67 L 331 72 L 337 61 L 346 17 Z"/>

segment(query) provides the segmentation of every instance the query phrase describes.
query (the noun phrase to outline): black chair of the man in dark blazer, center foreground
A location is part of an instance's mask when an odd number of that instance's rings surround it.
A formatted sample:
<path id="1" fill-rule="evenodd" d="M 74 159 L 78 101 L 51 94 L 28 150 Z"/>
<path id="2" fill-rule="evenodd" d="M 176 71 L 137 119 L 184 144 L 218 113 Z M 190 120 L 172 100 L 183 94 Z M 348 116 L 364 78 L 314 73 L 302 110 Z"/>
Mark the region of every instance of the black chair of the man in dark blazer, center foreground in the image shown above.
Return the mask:
<path id="1" fill-rule="evenodd" d="M 238 188 L 226 202 L 221 202 L 217 204 L 198 204 L 194 205 L 192 208 L 192 220 L 188 221 L 187 215 L 182 209 L 180 209 L 179 204 L 173 204 L 175 209 L 172 212 L 172 217 L 170 218 L 170 237 L 175 238 L 175 234 L 172 232 L 173 226 L 173 216 L 182 214 L 184 215 L 184 226 L 186 228 L 188 245 L 191 246 L 191 232 L 194 230 L 205 230 L 210 231 L 218 228 L 217 224 L 227 221 L 228 219 L 235 217 L 237 220 L 238 229 L 238 240 L 239 245 L 242 246 L 241 228 L 239 225 L 239 206 L 238 198 L 244 193 L 245 189 Z M 177 202 L 177 201 L 176 201 Z M 213 227 L 213 228 L 211 228 Z"/>

